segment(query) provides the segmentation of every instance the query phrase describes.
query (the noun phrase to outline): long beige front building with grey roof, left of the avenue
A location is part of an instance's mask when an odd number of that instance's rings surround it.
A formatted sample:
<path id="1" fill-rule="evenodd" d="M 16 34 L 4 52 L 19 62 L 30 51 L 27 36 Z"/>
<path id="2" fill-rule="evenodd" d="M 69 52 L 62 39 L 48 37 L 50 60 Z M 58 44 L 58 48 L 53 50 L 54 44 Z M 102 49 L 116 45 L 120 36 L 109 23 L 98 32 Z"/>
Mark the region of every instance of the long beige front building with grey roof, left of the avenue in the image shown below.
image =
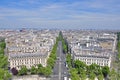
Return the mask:
<path id="1" fill-rule="evenodd" d="M 10 54 L 9 55 L 10 68 L 15 67 L 16 69 L 19 70 L 22 65 L 25 65 L 28 69 L 30 69 L 32 66 L 37 66 L 37 64 L 42 64 L 45 67 L 47 58 L 48 58 L 47 53 Z"/>

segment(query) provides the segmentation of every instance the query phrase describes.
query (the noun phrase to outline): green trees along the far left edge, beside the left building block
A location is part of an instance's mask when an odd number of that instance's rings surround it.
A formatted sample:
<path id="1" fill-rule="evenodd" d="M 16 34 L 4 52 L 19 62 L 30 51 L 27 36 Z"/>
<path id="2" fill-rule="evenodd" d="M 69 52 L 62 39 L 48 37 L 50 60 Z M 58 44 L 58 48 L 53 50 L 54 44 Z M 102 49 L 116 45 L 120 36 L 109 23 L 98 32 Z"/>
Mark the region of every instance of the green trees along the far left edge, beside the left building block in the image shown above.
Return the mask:
<path id="1" fill-rule="evenodd" d="M 8 71 L 8 58 L 4 55 L 4 49 L 6 47 L 5 40 L 0 40 L 0 80 L 8 80 L 11 78 L 11 74 Z"/>

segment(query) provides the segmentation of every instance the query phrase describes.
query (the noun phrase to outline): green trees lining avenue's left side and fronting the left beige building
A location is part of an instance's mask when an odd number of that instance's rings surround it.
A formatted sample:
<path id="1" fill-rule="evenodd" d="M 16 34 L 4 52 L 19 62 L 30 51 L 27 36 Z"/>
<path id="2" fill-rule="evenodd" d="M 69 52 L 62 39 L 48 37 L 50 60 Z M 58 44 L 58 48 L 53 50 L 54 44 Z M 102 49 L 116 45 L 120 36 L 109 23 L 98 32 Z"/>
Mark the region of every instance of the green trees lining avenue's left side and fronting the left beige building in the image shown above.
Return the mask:
<path id="1" fill-rule="evenodd" d="M 26 75 L 27 73 L 29 73 L 29 74 L 39 74 L 39 75 L 49 77 L 52 73 L 52 69 L 57 59 L 56 51 L 57 51 L 58 41 L 59 41 L 59 37 L 56 38 L 56 43 L 54 44 L 52 51 L 49 55 L 46 67 L 43 67 L 41 64 L 38 64 L 37 68 L 32 66 L 31 69 L 27 69 L 26 66 L 22 66 L 21 70 L 18 71 L 18 74 Z M 14 70 L 14 72 L 17 73 L 16 70 Z"/>

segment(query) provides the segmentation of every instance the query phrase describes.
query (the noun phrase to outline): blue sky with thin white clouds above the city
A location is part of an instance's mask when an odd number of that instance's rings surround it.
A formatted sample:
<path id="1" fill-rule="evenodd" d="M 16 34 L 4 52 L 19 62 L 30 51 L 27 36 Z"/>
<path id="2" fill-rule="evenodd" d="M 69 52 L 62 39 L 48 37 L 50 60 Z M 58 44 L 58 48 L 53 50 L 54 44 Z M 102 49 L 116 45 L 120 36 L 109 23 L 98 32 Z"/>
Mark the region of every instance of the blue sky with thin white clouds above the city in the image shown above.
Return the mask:
<path id="1" fill-rule="evenodd" d="M 120 0 L 0 0 L 0 29 L 120 29 Z"/>

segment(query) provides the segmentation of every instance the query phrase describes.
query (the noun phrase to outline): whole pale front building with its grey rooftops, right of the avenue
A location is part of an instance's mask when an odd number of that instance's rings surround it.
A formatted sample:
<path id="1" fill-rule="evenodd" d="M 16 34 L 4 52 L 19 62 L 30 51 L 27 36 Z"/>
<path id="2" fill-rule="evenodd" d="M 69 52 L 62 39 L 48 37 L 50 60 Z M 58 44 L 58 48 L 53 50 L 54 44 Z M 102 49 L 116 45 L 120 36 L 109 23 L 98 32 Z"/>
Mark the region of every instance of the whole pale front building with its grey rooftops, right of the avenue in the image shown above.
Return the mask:
<path id="1" fill-rule="evenodd" d="M 73 51 L 73 59 L 85 62 L 87 65 L 98 64 L 100 66 L 111 65 L 111 52 L 102 50 L 79 49 Z"/>

